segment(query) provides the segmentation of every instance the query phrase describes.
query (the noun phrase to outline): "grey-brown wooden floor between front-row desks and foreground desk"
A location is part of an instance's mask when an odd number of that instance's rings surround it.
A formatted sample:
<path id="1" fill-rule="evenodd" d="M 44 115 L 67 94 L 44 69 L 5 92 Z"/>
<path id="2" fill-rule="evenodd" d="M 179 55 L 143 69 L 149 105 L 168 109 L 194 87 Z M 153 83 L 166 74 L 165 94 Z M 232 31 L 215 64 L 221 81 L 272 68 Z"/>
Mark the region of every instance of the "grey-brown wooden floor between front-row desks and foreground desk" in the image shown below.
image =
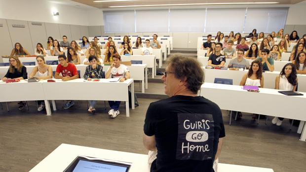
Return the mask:
<path id="1" fill-rule="evenodd" d="M 29 111 L 9 103 L 10 112 L 5 106 L 0 110 L 0 172 L 28 172 L 61 143 L 146 154 L 143 124 L 148 105 L 156 100 L 138 101 L 140 106 L 130 111 L 130 117 L 121 103 L 121 114 L 115 119 L 110 119 L 103 102 L 97 104 L 94 116 L 86 112 L 85 101 L 80 107 L 76 103 L 68 110 L 59 108 L 52 116 L 37 112 L 35 102 L 29 102 Z M 221 163 L 305 172 L 306 142 L 299 141 L 297 127 L 289 130 L 287 119 L 277 127 L 270 121 L 265 125 L 265 120 L 257 125 L 251 114 L 231 126 L 228 111 L 223 111 L 223 118 L 226 138 Z"/>

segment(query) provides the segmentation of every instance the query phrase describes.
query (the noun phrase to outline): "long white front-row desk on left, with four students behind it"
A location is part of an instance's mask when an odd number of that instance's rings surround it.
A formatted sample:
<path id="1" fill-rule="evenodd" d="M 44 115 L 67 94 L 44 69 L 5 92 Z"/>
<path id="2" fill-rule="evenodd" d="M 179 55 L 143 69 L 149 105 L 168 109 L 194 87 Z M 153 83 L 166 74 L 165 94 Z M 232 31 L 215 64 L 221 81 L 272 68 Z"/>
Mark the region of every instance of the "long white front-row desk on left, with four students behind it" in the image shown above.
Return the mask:
<path id="1" fill-rule="evenodd" d="M 129 117 L 128 86 L 131 89 L 132 109 L 135 108 L 133 79 L 127 79 L 124 82 L 109 82 L 108 79 L 100 79 L 99 82 L 86 81 L 84 79 L 70 81 L 55 80 L 56 82 L 40 81 L 44 90 L 47 115 L 51 115 L 49 101 L 52 101 L 53 110 L 56 110 L 55 100 L 95 100 L 125 102 L 126 116 Z M 66 91 L 65 94 L 59 94 L 59 90 L 65 90 L 65 88 L 69 88 L 69 91 Z M 90 94 L 84 94 L 86 90 Z M 92 90 L 95 90 L 97 93 L 92 94 Z"/>

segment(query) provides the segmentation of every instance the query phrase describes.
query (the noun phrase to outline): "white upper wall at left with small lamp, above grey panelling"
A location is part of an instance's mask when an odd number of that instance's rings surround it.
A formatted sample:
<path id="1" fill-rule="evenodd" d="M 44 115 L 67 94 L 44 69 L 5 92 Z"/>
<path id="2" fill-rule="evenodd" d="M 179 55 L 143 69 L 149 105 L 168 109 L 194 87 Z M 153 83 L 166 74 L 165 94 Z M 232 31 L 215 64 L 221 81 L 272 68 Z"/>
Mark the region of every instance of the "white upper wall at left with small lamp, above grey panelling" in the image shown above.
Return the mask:
<path id="1" fill-rule="evenodd" d="M 81 6 L 50 0 L 0 0 L 0 18 L 83 26 L 103 25 L 102 10 Z M 54 11 L 60 15 L 54 16 Z"/>

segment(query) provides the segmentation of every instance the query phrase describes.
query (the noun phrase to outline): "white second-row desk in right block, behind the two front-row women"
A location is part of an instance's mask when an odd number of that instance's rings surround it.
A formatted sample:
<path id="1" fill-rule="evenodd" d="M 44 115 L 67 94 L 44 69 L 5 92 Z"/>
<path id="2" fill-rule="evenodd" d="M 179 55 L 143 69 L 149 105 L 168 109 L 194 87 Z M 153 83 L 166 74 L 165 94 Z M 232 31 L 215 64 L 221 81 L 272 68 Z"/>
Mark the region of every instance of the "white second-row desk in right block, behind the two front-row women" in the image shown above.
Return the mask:
<path id="1" fill-rule="evenodd" d="M 226 78 L 232 79 L 233 85 L 239 85 L 242 76 L 248 72 L 248 70 L 223 70 L 223 69 L 204 69 L 205 82 L 214 83 L 215 78 Z M 275 78 L 279 75 L 279 71 L 266 71 L 263 73 L 264 76 L 264 88 L 274 89 Z M 298 91 L 306 92 L 306 75 L 298 74 L 299 85 Z"/>

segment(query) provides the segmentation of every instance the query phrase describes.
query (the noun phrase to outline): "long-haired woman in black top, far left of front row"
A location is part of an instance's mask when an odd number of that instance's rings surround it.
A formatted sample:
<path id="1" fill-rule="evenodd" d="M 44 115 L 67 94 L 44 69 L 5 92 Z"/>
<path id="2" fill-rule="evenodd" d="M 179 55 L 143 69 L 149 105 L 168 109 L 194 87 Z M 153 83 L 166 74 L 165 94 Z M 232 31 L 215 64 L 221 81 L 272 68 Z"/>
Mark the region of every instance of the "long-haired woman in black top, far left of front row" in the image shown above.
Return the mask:
<path id="1" fill-rule="evenodd" d="M 10 56 L 9 59 L 9 68 L 2 78 L 2 81 L 5 82 L 6 79 L 28 79 L 27 68 L 22 65 L 18 57 Z M 3 90 L 5 91 L 5 90 Z M 26 106 L 26 102 L 18 102 L 18 109 L 22 110 Z"/>

